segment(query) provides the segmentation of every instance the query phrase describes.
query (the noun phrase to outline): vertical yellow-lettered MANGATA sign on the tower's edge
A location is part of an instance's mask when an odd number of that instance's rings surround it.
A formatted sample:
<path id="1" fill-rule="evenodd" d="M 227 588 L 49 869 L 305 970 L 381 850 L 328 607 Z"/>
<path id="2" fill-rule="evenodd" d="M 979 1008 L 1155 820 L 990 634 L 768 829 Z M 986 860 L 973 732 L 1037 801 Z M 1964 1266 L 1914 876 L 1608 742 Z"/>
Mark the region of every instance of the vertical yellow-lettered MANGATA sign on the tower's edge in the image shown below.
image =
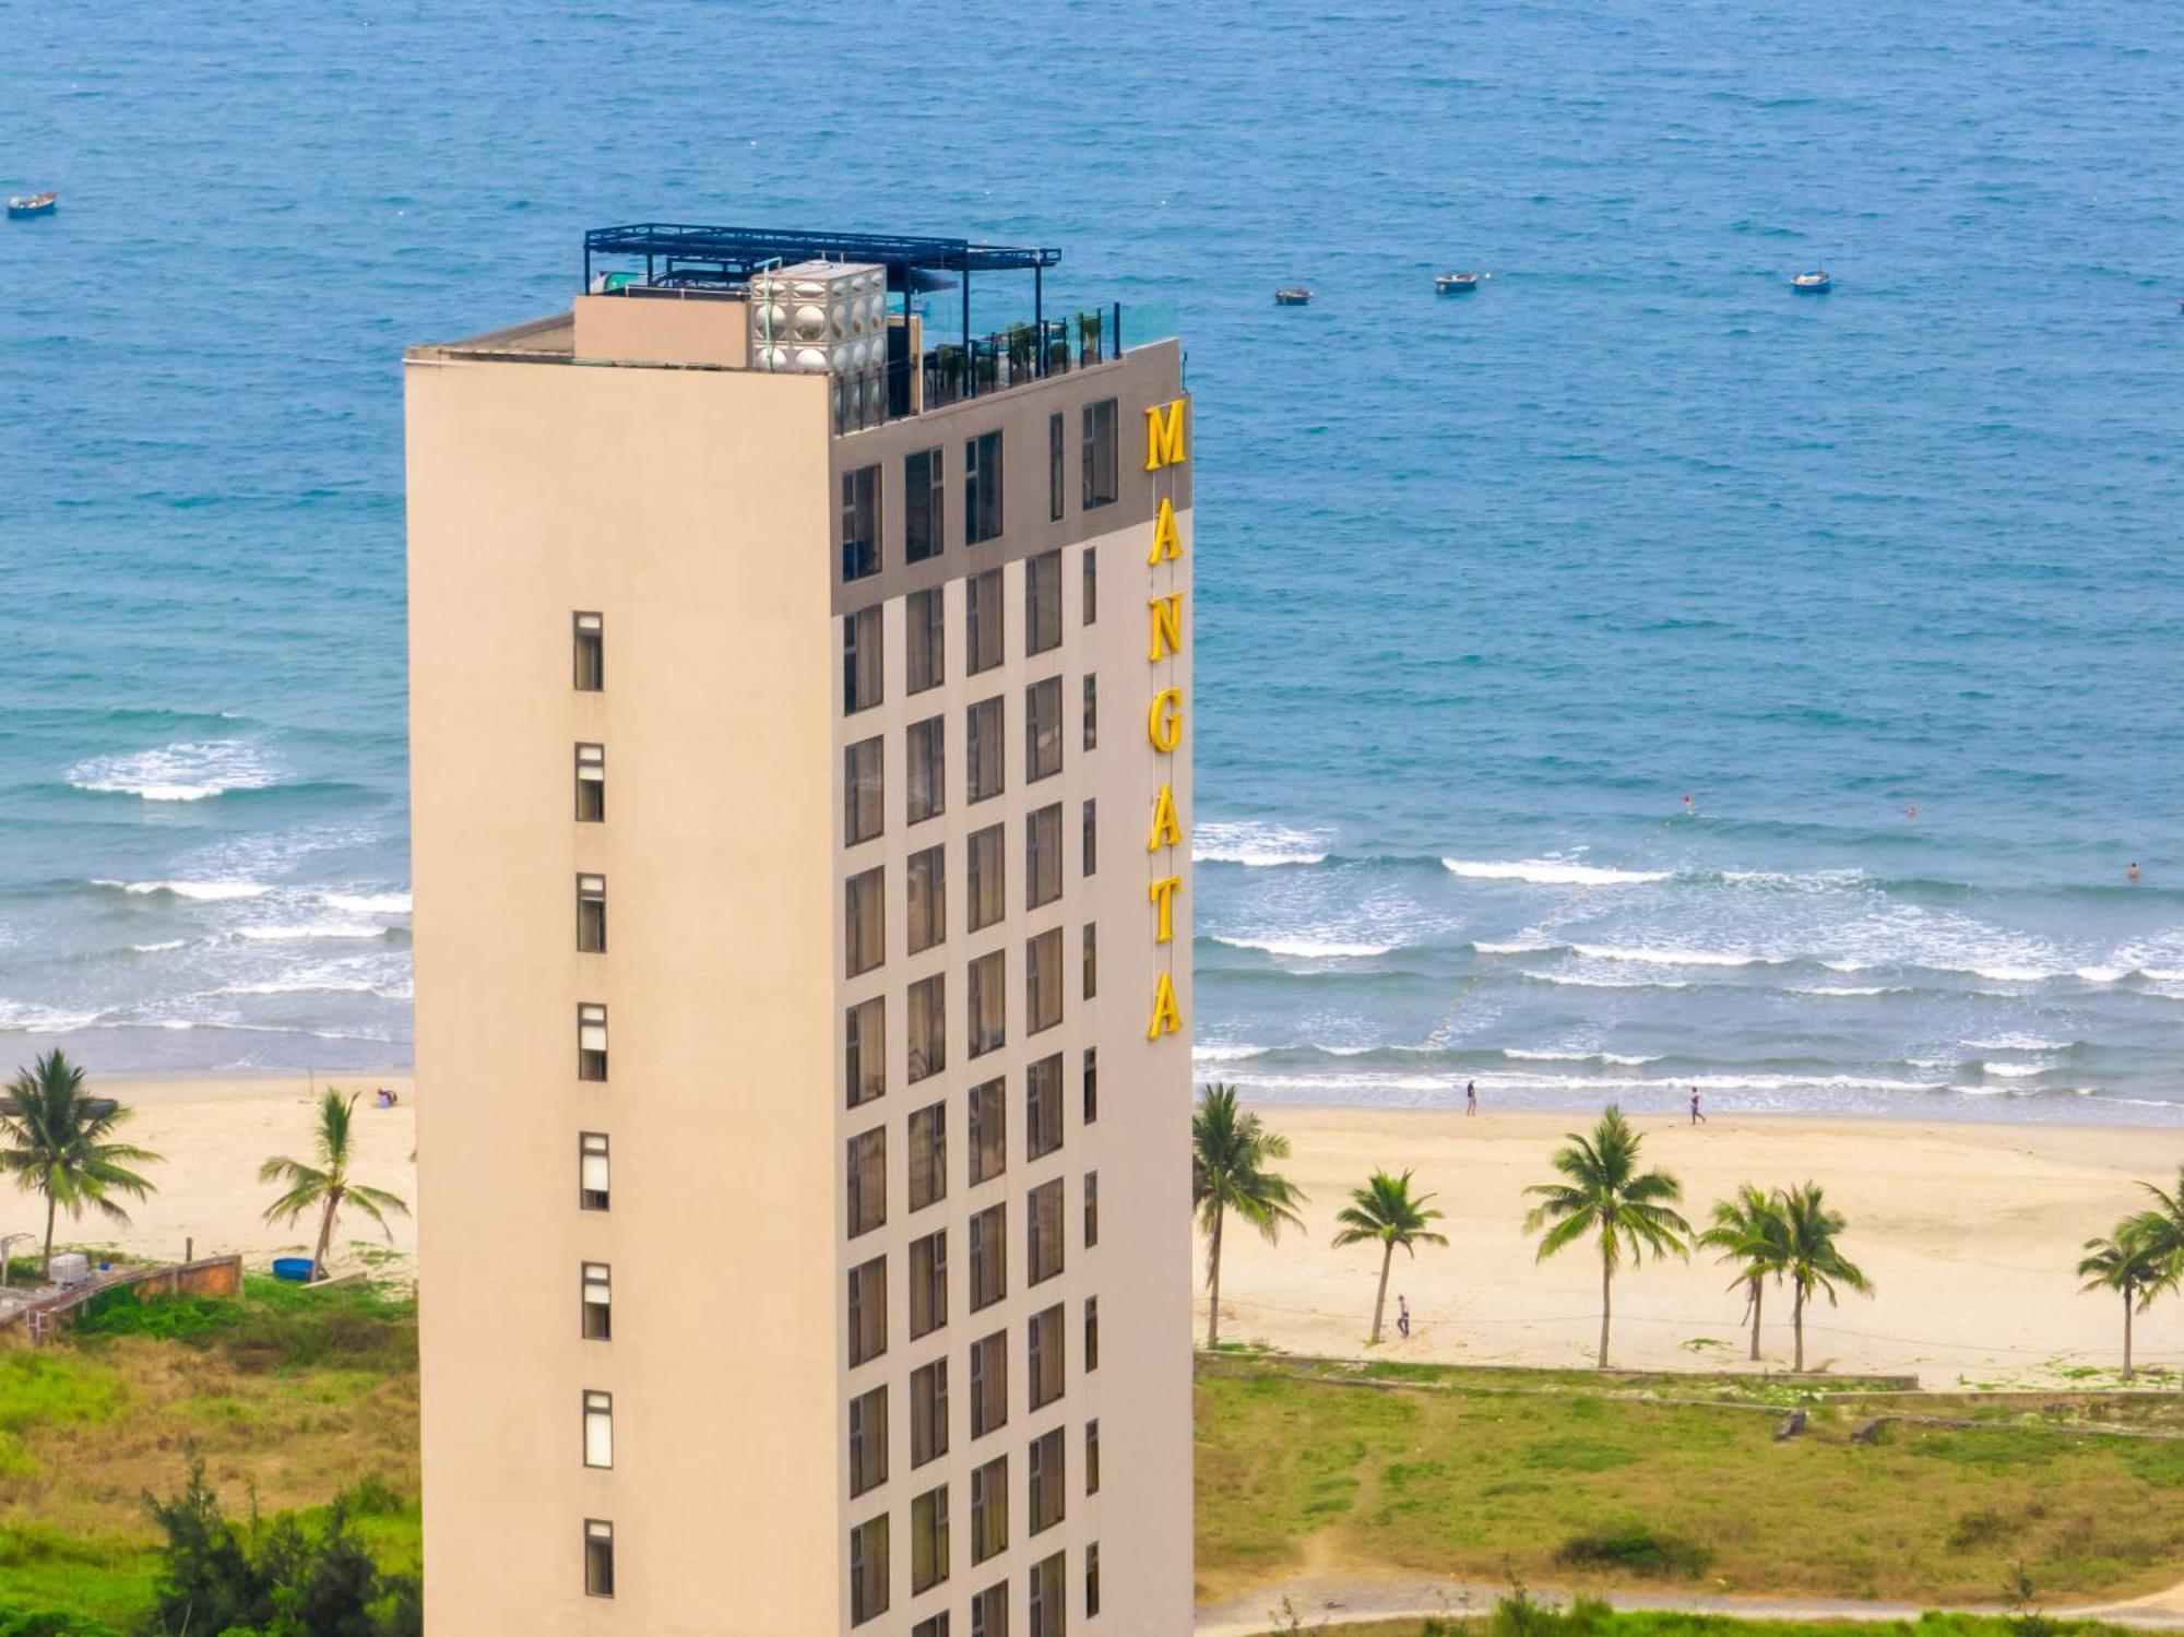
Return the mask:
<path id="1" fill-rule="evenodd" d="M 1144 413 L 1147 471 L 1177 467 L 1190 458 L 1184 404 L 1186 399 L 1177 397 L 1173 404 L 1155 404 Z M 1173 482 L 1162 482 L 1162 489 L 1173 491 Z M 1153 668 L 1153 703 L 1144 714 L 1144 733 L 1160 762 L 1160 792 L 1153 797 L 1153 821 L 1144 838 L 1149 858 L 1144 899 L 1153 910 L 1153 943 L 1166 945 L 1160 949 L 1164 960 L 1153 980 L 1153 1008 L 1144 1026 L 1149 1041 L 1175 1035 L 1184 1026 L 1184 1013 L 1175 1000 L 1175 899 L 1184 891 L 1177 849 L 1186 847 L 1188 838 L 1175 816 L 1175 781 L 1171 777 L 1173 757 L 1184 744 L 1184 690 L 1175 664 L 1184 650 L 1186 629 L 1184 592 L 1177 589 L 1182 559 L 1184 541 L 1175 526 L 1175 500 L 1173 493 L 1162 493 L 1160 506 L 1153 511 L 1153 541 L 1144 552 L 1144 565 L 1151 570 L 1144 602 L 1144 659 Z"/>

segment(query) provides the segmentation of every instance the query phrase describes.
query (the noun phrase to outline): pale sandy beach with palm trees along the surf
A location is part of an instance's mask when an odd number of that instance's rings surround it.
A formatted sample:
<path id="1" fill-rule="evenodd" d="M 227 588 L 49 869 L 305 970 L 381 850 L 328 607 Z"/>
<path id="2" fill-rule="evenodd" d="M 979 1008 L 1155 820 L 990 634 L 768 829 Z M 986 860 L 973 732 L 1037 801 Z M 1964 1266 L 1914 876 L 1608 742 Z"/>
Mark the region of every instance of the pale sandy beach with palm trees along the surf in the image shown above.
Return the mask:
<path id="1" fill-rule="evenodd" d="M 323 1080 L 317 1083 L 323 1089 Z M 341 1078 L 358 1104 L 358 1176 L 415 1200 L 417 1137 L 411 1083 L 395 1074 Z M 373 1109 L 371 1087 L 400 1094 Z M 151 1168 L 159 1192 L 131 1205 L 131 1227 L 85 1218 L 61 1240 L 116 1244 L 179 1257 L 240 1251 L 262 1259 L 299 1246 L 295 1229 L 260 1218 L 273 1190 L 258 1183 L 266 1155 L 304 1157 L 312 1087 L 301 1078 L 103 1080 L 135 1109 L 129 1139 L 166 1157 Z M 1522 1231 L 1527 1183 L 1548 1176 L 1546 1157 L 1577 1115 L 1422 1113 L 1409 1109 L 1267 1107 L 1289 1135 L 1286 1174 L 1304 1187 L 1304 1231 L 1278 1246 L 1227 1235 L 1223 1340 L 1256 1340 L 1297 1353 L 1354 1355 L 1372 1323 L 1378 1259 L 1369 1246 L 1334 1251 L 1332 1216 L 1376 1166 L 1415 1168 L 1437 1194 L 1448 1248 L 1398 1253 L 1389 1281 L 1385 1358 L 1472 1364 L 1590 1364 L 1599 1334 L 1599 1264 L 1579 1248 L 1538 1264 Z M 1815 1179 L 1850 1218 L 1845 1251 L 1876 1286 L 1843 1297 L 1806 1325 L 1808 1364 L 1835 1371 L 1915 1373 L 1926 1386 L 1966 1382 L 2042 1384 L 2073 1369 L 2114 1369 L 2121 1307 L 2079 1294 L 2079 1244 L 2143 1203 L 2138 1181 L 2173 1183 L 2184 1137 L 2136 1126 L 1922 1124 L 1911 1120 L 1728 1118 L 1693 1128 L 1642 1115 L 1647 1159 L 1684 1181 L 1684 1214 L 1743 1181 Z M 0 1231 L 39 1227 L 37 1203 L 0 1196 Z M 393 1218 L 393 1251 L 408 1264 L 415 1222 Z M 352 1244 L 384 1248 L 376 1229 L 345 1218 Z M 1203 1266 L 1195 1268 L 1203 1281 Z M 1708 1255 L 1645 1264 L 1616 1279 L 1614 1362 L 1629 1366 L 1743 1366 L 1743 1294 Z M 1409 1340 L 1393 1336 L 1393 1297 L 1411 1301 Z M 1199 1290 L 1203 1334 L 1206 1301 Z M 1765 1364 L 1789 1364 L 1789 1297 L 1767 1292 Z M 2138 1321 L 2140 1364 L 2184 1366 L 2184 1299 L 2164 1299 Z"/>

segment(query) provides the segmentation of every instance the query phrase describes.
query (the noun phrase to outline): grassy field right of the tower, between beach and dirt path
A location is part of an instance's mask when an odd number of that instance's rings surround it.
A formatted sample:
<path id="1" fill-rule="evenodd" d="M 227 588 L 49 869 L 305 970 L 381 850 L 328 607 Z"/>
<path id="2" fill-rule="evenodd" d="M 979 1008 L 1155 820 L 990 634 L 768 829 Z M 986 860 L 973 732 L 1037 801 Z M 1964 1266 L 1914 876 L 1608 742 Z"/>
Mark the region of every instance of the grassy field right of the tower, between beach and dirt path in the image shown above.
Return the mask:
<path id="1" fill-rule="evenodd" d="M 1201 1364 L 1199 1585 L 1431 1574 L 1900 1602 L 2136 1596 L 2184 1574 L 2173 1395 L 1977 1399 L 1780 1384 L 1267 1360 Z M 1870 1414 L 1880 1441 L 1850 1432 Z"/>

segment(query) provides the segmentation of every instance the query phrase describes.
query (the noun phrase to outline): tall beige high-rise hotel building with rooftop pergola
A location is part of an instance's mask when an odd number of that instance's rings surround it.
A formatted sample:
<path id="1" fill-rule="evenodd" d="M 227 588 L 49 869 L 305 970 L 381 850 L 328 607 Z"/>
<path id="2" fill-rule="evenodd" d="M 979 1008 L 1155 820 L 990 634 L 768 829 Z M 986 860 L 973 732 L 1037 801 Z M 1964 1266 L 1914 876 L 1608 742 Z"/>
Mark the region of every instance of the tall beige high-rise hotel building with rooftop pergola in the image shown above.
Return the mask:
<path id="1" fill-rule="evenodd" d="M 1179 1635 L 1179 347 L 585 260 L 406 358 L 428 1630 Z"/>

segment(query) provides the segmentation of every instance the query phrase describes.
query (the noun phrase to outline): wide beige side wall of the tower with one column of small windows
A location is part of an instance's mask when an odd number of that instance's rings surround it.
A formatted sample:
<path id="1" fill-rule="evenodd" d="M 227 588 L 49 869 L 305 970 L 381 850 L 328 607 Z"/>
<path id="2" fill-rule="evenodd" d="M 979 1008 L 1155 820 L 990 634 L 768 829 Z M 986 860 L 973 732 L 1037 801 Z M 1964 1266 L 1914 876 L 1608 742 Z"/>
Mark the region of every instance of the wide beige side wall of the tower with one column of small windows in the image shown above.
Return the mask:
<path id="1" fill-rule="evenodd" d="M 826 461 L 823 380 L 408 365 L 432 1637 L 839 1624 Z M 579 740 L 605 825 L 572 823 Z M 577 871 L 609 882 L 603 956 Z M 609 1006 L 605 1085 L 579 1000 Z M 614 1144 L 607 1214 L 577 1209 L 581 1131 Z M 579 1340 L 587 1259 L 612 1342 Z M 581 1465 L 585 1388 L 614 1471 Z"/>

